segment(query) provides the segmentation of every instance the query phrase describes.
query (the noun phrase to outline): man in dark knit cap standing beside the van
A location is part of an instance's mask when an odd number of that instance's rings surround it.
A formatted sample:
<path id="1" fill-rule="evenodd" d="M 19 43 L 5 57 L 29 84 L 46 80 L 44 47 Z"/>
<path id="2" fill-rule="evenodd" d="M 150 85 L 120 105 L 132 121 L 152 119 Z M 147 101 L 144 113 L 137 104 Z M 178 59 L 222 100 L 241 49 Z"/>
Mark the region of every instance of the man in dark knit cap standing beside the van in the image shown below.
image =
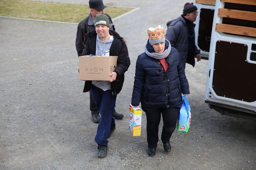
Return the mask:
<path id="1" fill-rule="evenodd" d="M 186 63 L 195 67 L 195 57 L 201 61 L 200 50 L 195 44 L 195 26 L 198 12 L 193 3 L 184 5 L 183 14 L 174 20 L 167 22 L 167 32 L 165 38 L 176 48 L 182 58 L 185 68 Z"/>

